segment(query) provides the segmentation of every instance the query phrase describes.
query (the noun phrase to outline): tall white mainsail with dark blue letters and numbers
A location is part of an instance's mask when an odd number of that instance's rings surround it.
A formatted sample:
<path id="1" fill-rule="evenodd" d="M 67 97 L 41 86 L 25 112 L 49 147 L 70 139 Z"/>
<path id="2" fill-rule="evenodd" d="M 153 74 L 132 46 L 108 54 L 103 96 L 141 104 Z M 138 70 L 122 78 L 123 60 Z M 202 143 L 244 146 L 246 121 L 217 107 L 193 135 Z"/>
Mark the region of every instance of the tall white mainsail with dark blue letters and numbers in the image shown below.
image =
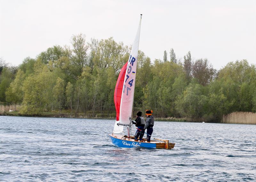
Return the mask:
<path id="1" fill-rule="evenodd" d="M 133 105 L 133 97 L 134 97 L 136 69 L 137 69 L 137 62 L 138 62 L 141 17 L 142 15 L 140 15 L 139 27 L 136 33 L 135 40 L 132 45 L 131 54 L 129 56 L 127 69 L 125 72 L 123 92 L 122 92 L 121 104 L 120 104 L 119 121 L 115 122 L 113 133 L 123 132 L 124 126 L 122 125 L 118 126 L 117 125 L 118 123 L 129 125 L 132 120 L 132 105 Z"/>

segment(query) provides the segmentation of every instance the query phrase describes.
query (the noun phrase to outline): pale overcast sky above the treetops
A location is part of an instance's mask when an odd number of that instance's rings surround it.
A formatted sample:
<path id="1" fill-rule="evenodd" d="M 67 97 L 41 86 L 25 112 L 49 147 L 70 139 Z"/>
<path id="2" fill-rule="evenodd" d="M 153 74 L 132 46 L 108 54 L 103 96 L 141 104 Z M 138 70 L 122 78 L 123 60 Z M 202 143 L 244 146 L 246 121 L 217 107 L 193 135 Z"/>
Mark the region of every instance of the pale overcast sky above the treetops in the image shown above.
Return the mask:
<path id="1" fill-rule="evenodd" d="M 140 46 L 147 56 L 191 52 L 215 69 L 230 61 L 256 64 L 256 1 L 0 1 L 0 56 L 12 65 L 53 45 L 113 37 L 131 45 L 142 16 Z"/>

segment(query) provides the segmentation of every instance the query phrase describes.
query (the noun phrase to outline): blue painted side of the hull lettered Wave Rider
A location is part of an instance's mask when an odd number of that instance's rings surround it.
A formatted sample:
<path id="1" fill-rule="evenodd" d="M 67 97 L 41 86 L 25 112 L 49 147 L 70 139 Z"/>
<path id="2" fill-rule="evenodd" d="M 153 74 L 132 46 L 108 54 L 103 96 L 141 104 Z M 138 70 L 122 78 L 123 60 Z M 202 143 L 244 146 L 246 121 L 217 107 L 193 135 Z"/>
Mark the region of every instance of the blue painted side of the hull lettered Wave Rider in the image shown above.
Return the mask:
<path id="1" fill-rule="evenodd" d="M 117 147 L 121 148 L 132 148 L 132 147 L 145 147 L 145 148 L 156 148 L 156 143 L 148 143 L 148 142 L 137 142 L 134 140 L 125 140 L 116 138 L 112 135 L 109 135 L 112 143 L 116 145 Z"/>

